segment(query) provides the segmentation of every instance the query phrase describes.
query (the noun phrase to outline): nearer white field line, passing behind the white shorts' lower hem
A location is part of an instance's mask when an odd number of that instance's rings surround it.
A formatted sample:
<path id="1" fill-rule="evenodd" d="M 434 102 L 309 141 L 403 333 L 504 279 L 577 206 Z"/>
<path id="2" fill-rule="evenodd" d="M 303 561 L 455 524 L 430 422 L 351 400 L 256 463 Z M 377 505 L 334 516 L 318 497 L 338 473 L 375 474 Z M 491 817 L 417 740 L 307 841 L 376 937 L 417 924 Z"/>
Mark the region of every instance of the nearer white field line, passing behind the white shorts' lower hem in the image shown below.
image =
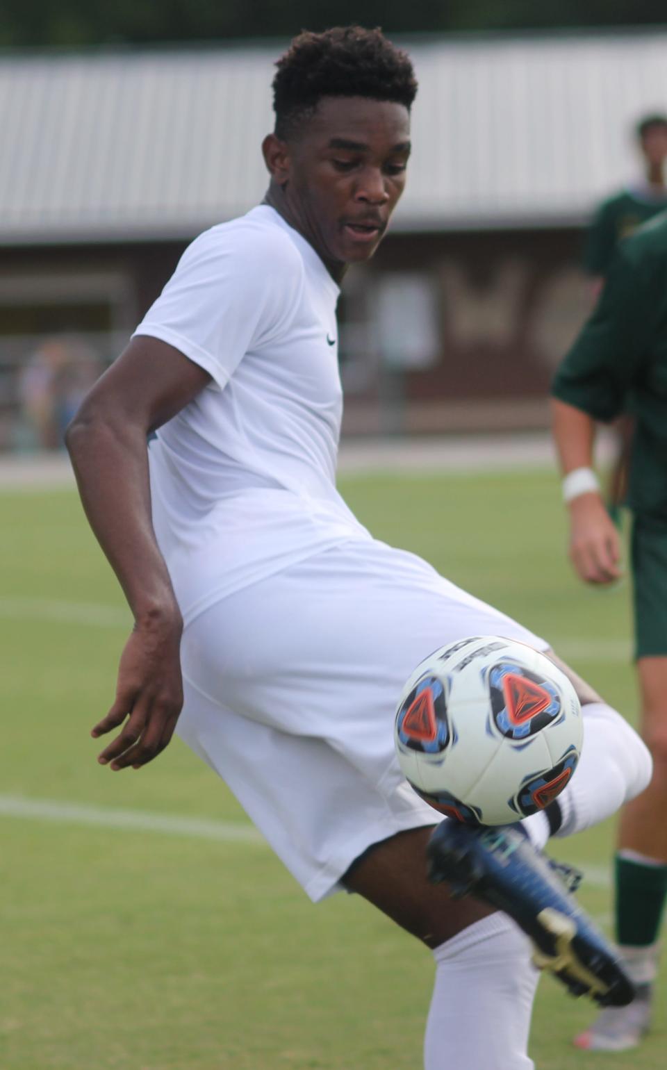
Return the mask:
<path id="1" fill-rule="evenodd" d="M 151 813 L 147 810 L 118 810 L 81 802 L 61 802 L 57 799 L 31 799 L 22 795 L 0 795 L 0 816 L 46 824 L 110 828 L 115 831 L 157 832 L 162 836 L 184 836 L 193 840 L 268 846 L 264 838 L 253 825 L 244 825 L 241 822 L 181 817 L 178 814 Z M 607 867 L 582 866 L 580 869 L 589 887 L 611 886 L 611 873 Z"/>

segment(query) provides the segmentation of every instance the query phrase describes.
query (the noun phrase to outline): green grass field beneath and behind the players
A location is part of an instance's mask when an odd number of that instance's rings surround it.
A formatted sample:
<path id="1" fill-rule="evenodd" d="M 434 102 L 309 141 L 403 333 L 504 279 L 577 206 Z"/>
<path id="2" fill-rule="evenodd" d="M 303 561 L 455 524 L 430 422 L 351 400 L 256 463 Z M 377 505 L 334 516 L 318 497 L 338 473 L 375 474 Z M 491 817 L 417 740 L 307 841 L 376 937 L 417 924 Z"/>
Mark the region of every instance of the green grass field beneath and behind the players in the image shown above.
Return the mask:
<path id="1" fill-rule="evenodd" d="M 545 635 L 634 716 L 628 592 L 571 576 L 554 475 L 357 476 L 343 489 L 375 534 Z M 141 771 L 96 765 L 89 729 L 111 700 L 122 597 L 73 492 L 2 492 L 0 508 L 1 1070 L 419 1070 L 429 953 L 355 898 L 312 906 L 252 836 L 179 832 L 171 817 L 247 828 L 179 740 Z M 558 844 L 591 869 L 581 899 L 605 926 L 612 834 Z M 664 1066 L 664 996 L 628 1056 L 570 1046 L 592 1013 L 543 980 L 541 1070 Z"/>

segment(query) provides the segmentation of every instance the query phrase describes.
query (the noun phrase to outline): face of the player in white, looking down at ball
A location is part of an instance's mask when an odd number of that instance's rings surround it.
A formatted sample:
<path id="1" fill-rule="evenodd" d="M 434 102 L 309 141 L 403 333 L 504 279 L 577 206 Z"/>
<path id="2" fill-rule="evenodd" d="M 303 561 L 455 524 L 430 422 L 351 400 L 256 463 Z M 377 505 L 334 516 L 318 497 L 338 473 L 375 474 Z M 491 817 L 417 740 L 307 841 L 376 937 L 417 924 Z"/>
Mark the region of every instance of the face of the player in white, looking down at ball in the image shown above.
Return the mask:
<path id="1" fill-rule="evenodd" d="M 324 97 L 289 143 L 285 197 L 324 261 L 373 256 L 405 186 L 409 136 L 401 104 Z"/>

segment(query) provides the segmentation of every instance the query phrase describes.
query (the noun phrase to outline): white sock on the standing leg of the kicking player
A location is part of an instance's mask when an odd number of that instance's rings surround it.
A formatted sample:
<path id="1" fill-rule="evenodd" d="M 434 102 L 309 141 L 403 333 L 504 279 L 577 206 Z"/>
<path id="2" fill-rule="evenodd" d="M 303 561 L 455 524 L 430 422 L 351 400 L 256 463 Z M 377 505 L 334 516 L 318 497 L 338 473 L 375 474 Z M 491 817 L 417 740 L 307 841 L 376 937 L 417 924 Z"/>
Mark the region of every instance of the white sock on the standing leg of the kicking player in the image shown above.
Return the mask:
<path id="1" fill-rule="evenodd" d="M 527 1049 L 540 975 L 531 950 L 503 914 L 436 948 L 425 1070 L 534 1070 Z"/>

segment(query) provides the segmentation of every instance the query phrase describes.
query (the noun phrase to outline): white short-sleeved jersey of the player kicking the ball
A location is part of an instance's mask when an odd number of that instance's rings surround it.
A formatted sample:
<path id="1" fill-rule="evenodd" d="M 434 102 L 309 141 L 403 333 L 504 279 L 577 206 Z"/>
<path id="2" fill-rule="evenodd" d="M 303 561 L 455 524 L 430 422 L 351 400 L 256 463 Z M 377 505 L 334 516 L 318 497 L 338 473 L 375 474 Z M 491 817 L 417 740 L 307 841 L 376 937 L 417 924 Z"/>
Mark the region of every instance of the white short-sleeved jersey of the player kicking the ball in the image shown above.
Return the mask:
<path id="1" fill-rule="evenodd" d="M 151 442 L 153 524 L 186 623 L 350 538 L 335 487 L 338 287 L 268 205 L 197 238 L 137 327 L 212 382 Z"/>

